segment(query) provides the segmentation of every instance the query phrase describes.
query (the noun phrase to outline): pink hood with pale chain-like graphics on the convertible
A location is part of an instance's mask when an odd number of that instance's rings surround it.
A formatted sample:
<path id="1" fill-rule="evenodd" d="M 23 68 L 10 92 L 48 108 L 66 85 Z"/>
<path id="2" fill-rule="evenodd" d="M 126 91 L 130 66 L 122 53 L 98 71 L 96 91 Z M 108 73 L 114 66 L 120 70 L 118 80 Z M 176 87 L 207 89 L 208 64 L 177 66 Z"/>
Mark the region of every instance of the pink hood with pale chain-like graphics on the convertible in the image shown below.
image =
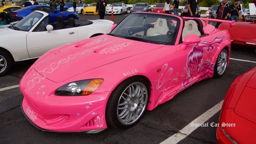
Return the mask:
<path id="1" fill-rule="evenodd" d="M 42 76 L 60 82 L 93 68 L 160 47 L 163 45 L 102 35 L 57 47 L 39 58 L 34 68 Z"/>

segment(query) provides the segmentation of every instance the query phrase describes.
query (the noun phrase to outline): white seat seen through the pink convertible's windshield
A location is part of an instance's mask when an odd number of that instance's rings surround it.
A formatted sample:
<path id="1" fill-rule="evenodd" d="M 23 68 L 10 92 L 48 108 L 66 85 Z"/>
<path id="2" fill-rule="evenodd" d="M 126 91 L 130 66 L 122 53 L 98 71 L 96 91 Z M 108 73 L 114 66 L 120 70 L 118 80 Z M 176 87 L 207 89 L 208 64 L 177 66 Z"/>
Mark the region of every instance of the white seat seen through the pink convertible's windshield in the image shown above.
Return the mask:
<path id="1" fill-rule="evenodd" d="M 154 28 L 147 30 L 147 36 L 166 35 L 167 31 L 169 31 L 167 20 L 158 18 Z"/>

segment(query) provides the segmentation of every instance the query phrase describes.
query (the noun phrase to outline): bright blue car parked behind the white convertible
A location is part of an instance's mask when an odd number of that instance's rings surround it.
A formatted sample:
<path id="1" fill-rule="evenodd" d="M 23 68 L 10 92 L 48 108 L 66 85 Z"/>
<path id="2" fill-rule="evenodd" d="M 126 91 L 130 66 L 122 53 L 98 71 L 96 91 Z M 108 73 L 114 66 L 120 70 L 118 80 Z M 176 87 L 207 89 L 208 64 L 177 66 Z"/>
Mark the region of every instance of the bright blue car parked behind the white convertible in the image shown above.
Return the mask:
<path id="1" fill-rule="evenodd" d="M 46 6 L 46 5 L 27 6 L 25 8 L 11 12 L 11 16 L 13 17 L 13 19 L 15 21 L 21 20 L 22 18 L 28 16 L 31 12 L 33 12 L 35 10 L 44 11 L 44 12 L 49 13 L 49 15 L 51 16 L 50 22 L 56 22 L 56 18 L 59 15 L 62 16 L 64 20 L 67 20 L 69 18 L 79 19 L 78 15 L 76 13 L 63 12 L 63 11 L 60 12 L 60 11 L 57 11 L 57 10 L 51 8 L 50 6 Z"/>

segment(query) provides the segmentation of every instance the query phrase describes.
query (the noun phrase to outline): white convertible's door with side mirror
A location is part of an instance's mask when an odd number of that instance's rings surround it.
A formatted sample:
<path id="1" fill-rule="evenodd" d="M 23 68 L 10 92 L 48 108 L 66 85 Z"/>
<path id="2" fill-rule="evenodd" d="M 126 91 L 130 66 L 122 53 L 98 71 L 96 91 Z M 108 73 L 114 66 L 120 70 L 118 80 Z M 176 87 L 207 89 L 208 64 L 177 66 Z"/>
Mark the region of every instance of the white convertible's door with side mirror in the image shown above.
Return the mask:
<path id="1" fill-rule="evenodd" d="M 34 30 L 26 36 L 27 49 L 30 58 L 41 57 L 45 52 L 51 49 L 76 42 L 78 32 L 76 28 L 60 29 L 46 31 L 46 25 L 49 23 L 49 17 L 42 20 Z"/>

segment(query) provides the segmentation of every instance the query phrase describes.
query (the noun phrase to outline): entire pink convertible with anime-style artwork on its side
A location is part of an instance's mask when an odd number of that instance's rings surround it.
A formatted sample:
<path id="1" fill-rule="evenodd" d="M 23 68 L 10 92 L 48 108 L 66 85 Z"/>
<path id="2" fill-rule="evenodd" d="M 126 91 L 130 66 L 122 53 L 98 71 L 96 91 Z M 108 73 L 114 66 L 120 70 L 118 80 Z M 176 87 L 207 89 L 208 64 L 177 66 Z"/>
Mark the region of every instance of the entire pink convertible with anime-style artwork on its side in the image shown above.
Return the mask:
<path id="1" fill-rule="evenodd" d="M 107 124 L 128 128 L 146 109 L 220 77 L 228 65 L 230 35 L 200 18 L 139 12 L 115 26 L 109 35 L 51 50 L 29 68 L 20 87 L 33 126 L 87 133 Z"/>

